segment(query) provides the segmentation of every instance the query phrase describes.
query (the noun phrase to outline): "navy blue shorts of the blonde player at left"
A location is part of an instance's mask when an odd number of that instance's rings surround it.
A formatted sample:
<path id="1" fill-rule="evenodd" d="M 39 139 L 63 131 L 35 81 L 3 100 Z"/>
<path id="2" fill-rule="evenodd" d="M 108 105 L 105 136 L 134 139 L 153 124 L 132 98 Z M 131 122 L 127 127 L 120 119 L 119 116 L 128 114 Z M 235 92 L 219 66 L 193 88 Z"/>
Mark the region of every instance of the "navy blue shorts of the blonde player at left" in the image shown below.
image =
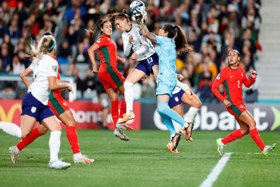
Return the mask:
<path id="1" fill-rule="evenodd" d="M 31 93 L 27 93 L 22 99 L 21 105 L 22 113 L 21 115 L 28 115 L 36 118 L 36 120 L 41 123 L 43 119 L 55 116 L 53 111 L 49 106 L 43 105 L 39 100 L 37 100 Z"/>

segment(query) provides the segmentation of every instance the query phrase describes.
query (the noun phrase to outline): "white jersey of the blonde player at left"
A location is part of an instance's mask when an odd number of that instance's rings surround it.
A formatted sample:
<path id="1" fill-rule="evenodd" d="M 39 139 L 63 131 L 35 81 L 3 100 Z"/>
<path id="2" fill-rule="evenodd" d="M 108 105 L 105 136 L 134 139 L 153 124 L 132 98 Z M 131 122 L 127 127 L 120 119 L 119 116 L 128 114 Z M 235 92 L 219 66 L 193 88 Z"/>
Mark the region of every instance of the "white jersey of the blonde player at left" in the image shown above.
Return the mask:
<path id="1" fill-rule="evenodd" d="M 50 55 L 44 54 L 40 61 L 35 59 L 29 67 L 33 71 L 34 82 L 29 86 L 28 92 L 47 105 L 50 96 L 48 77 L 57 77 L 58 63 Z"/>

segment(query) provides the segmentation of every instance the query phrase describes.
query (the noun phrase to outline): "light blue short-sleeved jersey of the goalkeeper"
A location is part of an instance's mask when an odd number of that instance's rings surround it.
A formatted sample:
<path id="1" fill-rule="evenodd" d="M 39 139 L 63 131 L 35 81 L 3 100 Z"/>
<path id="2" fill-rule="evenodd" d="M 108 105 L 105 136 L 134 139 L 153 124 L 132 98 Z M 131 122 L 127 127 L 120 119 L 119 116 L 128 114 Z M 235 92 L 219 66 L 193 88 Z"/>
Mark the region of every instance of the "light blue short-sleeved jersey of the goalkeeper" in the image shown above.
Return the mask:
<path id="1" fill-rule="evenodd" d="M 155 48 L 159 56 L 159 73 L 158 77 L 177 78 L 175 71 L 176 46 L 172 38 L 165 36 L 156 36 L 158 45 Z"/>

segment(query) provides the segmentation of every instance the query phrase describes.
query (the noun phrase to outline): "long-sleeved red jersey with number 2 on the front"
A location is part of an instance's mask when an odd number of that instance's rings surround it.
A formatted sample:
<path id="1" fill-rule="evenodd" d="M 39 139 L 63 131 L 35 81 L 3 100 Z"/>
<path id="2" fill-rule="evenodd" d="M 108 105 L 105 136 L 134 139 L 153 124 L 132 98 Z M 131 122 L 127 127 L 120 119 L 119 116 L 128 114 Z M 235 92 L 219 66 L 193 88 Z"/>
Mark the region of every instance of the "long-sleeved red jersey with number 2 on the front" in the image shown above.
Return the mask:
<path id="1" fill-rule="evenodd" d="M 242 84 L 250 87 L 256 81 L 255 78 L 248 80 L 245 71 L 242 67 L 237 66 L 237 69 L 231 69 L 229 66 L 220 71 L 212 86 L 214 95 L 223 102 L 225 99 L 231 103 L 244 103 L 242 98 Z M 224 97 L 218 91 L 220 84 L 224 84 Z"/>

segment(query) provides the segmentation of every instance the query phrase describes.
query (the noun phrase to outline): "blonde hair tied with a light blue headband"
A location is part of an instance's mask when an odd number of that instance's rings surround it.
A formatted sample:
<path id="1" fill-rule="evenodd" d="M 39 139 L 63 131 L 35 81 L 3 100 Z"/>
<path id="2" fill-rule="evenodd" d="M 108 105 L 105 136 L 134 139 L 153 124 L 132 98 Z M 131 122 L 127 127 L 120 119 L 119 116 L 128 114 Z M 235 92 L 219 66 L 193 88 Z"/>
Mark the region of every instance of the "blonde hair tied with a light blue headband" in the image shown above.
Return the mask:
<path id="1" fill-rule="evenodd" d="M 27 53 L 25 56 L 30 58 L 37 58 L 39 60 L 42 59 L 43 54 L 50 53 L 54 50 L 54 46 L 56 45 L 56 40 L 51 35 L 44 35 L 40 38 L 37 47 L 35 47 L 35 41 L 31 42 L 31 51 Z"/>

